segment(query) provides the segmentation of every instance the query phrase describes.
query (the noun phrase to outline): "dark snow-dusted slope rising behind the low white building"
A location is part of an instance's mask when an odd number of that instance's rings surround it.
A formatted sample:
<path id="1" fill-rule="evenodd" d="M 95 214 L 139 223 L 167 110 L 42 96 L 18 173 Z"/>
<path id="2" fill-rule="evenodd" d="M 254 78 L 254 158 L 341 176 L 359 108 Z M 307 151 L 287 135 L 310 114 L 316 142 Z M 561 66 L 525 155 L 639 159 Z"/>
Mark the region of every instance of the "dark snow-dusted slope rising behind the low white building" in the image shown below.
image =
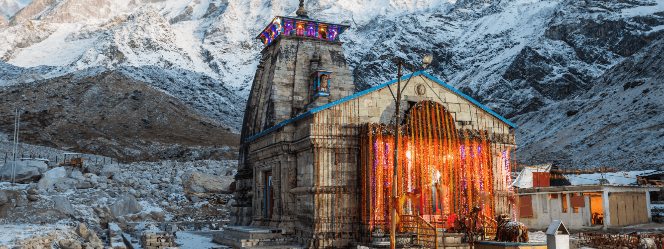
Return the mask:
<path id="1" fill-rule="evenodd" d="M 658 169 L 664 165 L 663 57 L 660 36 L 590 90 L 513 118 L 521 124 L 519 151 L 564 167 Z"/>

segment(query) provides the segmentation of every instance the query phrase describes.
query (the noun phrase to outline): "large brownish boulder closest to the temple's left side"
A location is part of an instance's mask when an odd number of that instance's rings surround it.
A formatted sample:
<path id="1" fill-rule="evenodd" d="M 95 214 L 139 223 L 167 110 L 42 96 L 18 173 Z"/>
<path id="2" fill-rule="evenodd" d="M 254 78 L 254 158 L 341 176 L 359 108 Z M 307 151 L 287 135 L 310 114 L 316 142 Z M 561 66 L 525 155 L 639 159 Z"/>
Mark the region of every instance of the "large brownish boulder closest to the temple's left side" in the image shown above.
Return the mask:
<path id="1" fill-rule="evenodd" d="M 230 194 L 230 183 L 234 177 L 231 176 L 216 176 L 208 175 L 205 173 L 185 173 L 182 177 L 182 187 L 185 192 L 185 197 L 207 197 L 217 193 Z"/>

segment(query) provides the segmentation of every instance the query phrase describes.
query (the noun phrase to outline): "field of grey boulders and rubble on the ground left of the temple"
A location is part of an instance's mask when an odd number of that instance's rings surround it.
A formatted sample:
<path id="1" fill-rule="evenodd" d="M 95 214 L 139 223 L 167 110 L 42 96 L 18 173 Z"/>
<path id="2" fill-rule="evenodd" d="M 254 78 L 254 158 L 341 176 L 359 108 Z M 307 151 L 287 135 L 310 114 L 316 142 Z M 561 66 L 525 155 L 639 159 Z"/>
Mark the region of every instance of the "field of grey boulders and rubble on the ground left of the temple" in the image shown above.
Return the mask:
<path id="1" fill-rule="evenodd" d="M 14 221 L 33 224 L 48 224 L 62 219 L 70 219 L 72 222 L 78 220 L 72 223 L 72 226 L 78 224 L 78 240 L 46 239 L 59 248 L 125 249 L 122 247 L 122 230 L 119 228 L 122 226 L 118 227 L 117 224 L 228 220 L 228 210 L 233 203 L 230 193 L 231 187 L 234 187 L 231 183 L 234 181 L 232 175 L 236 173 L 235 167 L 232 160 L 55 167 L 44 170 L 39 181 L 35 179 L 32 183 L 19 185 L 19 189 L 5 189 L 11 185 L 0 183 L 0 208 L 7 208 L 8 213 L 16 216 L 0 218 L 13 218 Z M 20 189 L 22 187 L 25 189 Z M 20 216 L 14 213 L 25 214 Z M 178 227 L 173 225 L 173 229 L 177 230 Z M 150 244 L 149 248 L 161 249 L 175 245 L 169 235 L 155 236 L 159 236 L 155 238 L 159 242 L 153 243 L 153 238 L 149 238 L 149 243 L 146 243 Z M 11 243 L 16 244 L 23 245 L 23 249 L 50 248 L 44 245 L 26 246 L 35 243 L 25 239 Z"/>

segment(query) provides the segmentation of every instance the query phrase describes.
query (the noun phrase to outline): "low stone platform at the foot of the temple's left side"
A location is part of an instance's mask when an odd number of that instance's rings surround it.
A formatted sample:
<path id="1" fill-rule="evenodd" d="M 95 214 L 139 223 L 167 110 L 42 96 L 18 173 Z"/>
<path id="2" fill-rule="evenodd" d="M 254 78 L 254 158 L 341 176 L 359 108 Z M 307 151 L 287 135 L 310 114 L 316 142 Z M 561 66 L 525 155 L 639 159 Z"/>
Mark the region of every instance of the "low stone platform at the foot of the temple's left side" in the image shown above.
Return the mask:
<path id="1" fill-rule="evenodd" d="M 302 249 L 292 244 L 293 238 L 282 235 L 282 228 L 266 226 L 226 226 L 212 242 L 240 249 Z"/>

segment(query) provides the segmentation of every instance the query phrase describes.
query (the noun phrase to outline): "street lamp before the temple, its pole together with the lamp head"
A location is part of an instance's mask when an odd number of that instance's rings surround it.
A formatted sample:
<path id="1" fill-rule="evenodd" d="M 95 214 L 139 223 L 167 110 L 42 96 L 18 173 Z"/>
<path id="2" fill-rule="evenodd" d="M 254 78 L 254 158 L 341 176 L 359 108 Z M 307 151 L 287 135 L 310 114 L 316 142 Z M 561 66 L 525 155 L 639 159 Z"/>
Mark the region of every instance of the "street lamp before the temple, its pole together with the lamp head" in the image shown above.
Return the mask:
<path id="1" fill-rule="evenodd" d="M 424 68 L 426 68 L 426 66 L 428 64 L 431 64 L 431 61 L 433 59 L 434 59 L 434 56 L 432 54 L 426 54 L 424 56 L 424 58 L 422 58 L 422 68 L 420 69 L 420 71 L 424 70 Z M 400 109 L 400 104 L 401 104 L 401 92 L 403 92 L 403 90 L 401 89 L 401 76 L 402 76 L 401 75 L 401 64 L 402 64 L 402 62 L 399 61 L 398 62 L 399 71 L 398 71 L 398 74 L 396 76 L 397 77 L 396 78 L 396 101 L 394 103 L 395 106 L 396 106 L 396 108 L 394 110 L 394 118 L 396 119 L 396 123 L 394 125 L 394 168 L 392 169 L 392 173 L 394 173 L 394 175 L 392 175 L 392 198 L 390 199 L 390 201 L 396 201 L 396 199 L 398 198 L 398 196 L 396 196 L 397 195 L 397 193 L 396 193 L 396 178 L 398 177 L 396 171 L 398 169 L 397 164 L 398 164 L 398 161 L 399 161 L 399 153 L 398 153 L 398 151 L 399 151 L 399 141 L 400 141 L 400 139 L 399 139 L 400 132 L 399 131 L 401 130 L 401 127 L 400 127 L 400 124 L 399 124 L 399 118 L 400 118 L 401 114 L 400 114 L 399 109 Z M 406 86 L 408 86 L 408 82 L 410 82 L 410 78 L 413 78 L 414 74 L 415 74 L 415 72 L 412 72 L 410 74 L 410 77 L 408 77 L 408 81 L 406 81 L 406 84 L 404 85 L 404 89 L 406 88 Z M 388 87 L 389 87 L 389 85 L 388 85 Z M 393 204 L 393 203 L 390 203 L 390 204 Z M 392 212 L 391 212 L 391 215 L 390 215 L 390 249 L 394 249 L 394 245 L 396 244 L 396 208 L 394 208 L 395 206 L 396 205 L 390 205 L 390 207 L 392 207 Z M 436 239 L 438 239 L 438 238 L 436 238 Z"/>

